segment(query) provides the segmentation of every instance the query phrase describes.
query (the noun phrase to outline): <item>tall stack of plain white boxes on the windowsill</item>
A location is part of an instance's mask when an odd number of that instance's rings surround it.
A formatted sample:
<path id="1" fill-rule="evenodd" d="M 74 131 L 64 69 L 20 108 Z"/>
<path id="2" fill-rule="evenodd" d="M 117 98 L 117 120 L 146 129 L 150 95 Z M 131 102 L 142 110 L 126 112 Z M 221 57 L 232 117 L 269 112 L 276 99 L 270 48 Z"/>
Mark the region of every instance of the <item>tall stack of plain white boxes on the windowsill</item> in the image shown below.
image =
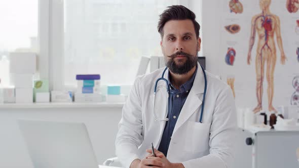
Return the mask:
<path id="1" fill-rule="evenodd" d="M 35 53 L 10 53 L 10 73 L 15 84 L 16 103 L 32 103 L 32 79 L 36 71 Z"/>

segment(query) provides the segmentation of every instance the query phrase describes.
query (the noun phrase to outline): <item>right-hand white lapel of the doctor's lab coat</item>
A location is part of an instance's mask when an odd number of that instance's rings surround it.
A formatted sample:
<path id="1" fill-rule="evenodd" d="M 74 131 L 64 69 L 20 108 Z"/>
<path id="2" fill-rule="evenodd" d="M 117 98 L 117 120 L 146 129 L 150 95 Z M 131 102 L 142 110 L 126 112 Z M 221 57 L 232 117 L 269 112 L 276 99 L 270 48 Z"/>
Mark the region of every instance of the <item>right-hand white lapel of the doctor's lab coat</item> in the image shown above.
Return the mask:
<path id="1" fill-rule="evenodd" d="M 197 110 L 202 104 L 202 98 L 200 96 L 204 93 L 205 79 L 200 65 L 198 64 L 197 73 L 193 82 L 192 89 L 180 111 L 179 117 L 175 124 L 173 134 L 186 122 L 194 112 L 200 112 Z"/>

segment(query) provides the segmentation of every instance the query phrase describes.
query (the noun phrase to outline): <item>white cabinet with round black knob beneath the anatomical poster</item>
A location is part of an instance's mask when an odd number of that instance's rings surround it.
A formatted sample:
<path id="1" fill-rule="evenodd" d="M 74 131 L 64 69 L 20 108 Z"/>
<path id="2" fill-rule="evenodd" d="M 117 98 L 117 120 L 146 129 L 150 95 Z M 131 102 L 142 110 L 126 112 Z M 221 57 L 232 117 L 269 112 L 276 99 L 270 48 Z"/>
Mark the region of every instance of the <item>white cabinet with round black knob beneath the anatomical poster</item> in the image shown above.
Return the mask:
<path id="1" fill-rule="evenodd" d="M 253 142 L 246 145 L 246 138 Z M 298 167 L 296 149 L 299 131 L 258 131 L 238 129 L 236 168 Z"/>

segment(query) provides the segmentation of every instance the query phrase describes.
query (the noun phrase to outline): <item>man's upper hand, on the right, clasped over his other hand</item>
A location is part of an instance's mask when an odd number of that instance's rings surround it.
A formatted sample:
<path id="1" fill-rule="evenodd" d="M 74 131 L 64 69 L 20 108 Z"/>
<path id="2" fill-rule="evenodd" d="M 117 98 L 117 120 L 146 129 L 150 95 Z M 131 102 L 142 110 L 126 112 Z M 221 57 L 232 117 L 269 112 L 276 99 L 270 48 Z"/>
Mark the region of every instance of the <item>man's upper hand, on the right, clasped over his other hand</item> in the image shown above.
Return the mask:
<path id="1" fill-rule="evenodd" d="M 155 150 L 156 157 L 152 155 L 152 149 L 147 149 L 146 152 L 149 154 L 147 155 L 146 159 L 162 162 L 163 165 L 161 167 L 165 167 L 165 168 L 184 168 L 182 163 L 171 163 L 162 152 L 156 149 L 154 150 Z"/>

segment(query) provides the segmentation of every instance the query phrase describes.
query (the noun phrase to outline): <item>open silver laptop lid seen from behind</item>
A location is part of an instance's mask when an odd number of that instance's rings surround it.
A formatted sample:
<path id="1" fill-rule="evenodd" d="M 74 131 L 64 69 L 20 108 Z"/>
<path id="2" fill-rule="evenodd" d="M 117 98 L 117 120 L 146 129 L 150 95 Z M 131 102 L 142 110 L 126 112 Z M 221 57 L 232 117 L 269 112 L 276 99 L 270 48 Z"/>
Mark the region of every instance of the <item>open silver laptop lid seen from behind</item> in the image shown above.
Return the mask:
<path id="1" fill-rule="evenodd" d="M 84 123 L 18 120 L 36 168 L 98 168 Z"/>

